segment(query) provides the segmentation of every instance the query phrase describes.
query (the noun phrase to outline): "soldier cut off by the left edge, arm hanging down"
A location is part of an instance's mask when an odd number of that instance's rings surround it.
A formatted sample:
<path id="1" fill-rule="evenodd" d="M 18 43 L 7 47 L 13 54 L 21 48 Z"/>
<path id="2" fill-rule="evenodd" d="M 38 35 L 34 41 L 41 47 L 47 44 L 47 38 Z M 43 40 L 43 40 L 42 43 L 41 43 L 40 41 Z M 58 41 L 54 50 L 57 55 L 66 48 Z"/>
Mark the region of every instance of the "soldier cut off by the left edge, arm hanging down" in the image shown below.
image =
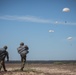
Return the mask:
<path id="1" fill-rule="evenodd" d="M 7 57 L 7 61 L 9 61 L 9 55 L 8 52 L 6 51 L 7 48 L 8 48 L 7 46 L 4 46 L 3 48 L 0 49 L 0 71 L 2 67 L 4 71 L 7 71 L 5 67 L 5 58 Z"/>

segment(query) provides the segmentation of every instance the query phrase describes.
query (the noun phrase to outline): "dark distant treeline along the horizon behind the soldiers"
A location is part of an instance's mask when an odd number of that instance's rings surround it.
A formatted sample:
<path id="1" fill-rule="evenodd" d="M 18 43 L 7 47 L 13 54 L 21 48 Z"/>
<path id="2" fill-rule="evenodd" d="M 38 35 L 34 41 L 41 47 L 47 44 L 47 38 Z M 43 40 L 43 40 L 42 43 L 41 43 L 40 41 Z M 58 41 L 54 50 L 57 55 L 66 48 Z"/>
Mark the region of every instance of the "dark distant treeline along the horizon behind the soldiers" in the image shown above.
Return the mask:
<path id="1" fill-rule="evenodd" d="M 15 61 L 15 60 L 11 60 L 9 62 L 6 61 L 6 63 L 21 63 L 21 61 Z M 28 64 L 68 64 L 68 63 L 75 63 L 76 64 L 76 60 L 27 60 Z"/>

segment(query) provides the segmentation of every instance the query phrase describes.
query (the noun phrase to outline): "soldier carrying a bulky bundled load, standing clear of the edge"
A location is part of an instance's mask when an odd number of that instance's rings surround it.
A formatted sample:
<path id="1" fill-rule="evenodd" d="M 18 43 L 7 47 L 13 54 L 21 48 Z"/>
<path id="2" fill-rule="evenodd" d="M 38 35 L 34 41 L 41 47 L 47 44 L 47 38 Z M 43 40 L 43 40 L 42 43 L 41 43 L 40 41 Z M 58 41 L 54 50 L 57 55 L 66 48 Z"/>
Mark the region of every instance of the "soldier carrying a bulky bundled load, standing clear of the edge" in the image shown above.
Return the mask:
<path id="1" fill-rule="evenodd" d="M 27 45 L 24 45 L 23 42 L 20 43 L 20 46 L 17 48 L 18 50 L 18 53 L 20 54 L 21 56 L 21 71 L 23 71 L 23 68 L 25 66 L 25 62 L 26 62 L 26 55 L 29 53 L 28 51 L 28 46 Z"/>

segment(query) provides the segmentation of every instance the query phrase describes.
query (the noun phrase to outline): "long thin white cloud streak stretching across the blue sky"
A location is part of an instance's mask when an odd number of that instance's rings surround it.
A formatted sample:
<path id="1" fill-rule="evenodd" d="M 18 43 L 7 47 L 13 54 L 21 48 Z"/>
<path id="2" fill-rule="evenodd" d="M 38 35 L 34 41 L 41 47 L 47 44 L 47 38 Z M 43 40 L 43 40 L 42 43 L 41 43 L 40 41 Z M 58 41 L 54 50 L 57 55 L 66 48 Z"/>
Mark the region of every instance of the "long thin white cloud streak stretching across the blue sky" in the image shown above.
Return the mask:
<path id="1" fill-rule="evenodd" d="M 42 19 L 35 16 L 11 16 L 11 15 L 4 15 L 0 16 L 2 20 L 16 20 L 16 21 L 25 21 L 25 22 L 35 22 L 35 23 L 46 23 L 46 24 L 55 24 L 55 25 L 76 25 L 75 23 L 64 21 L 54 21 L 52 19 Z"/>

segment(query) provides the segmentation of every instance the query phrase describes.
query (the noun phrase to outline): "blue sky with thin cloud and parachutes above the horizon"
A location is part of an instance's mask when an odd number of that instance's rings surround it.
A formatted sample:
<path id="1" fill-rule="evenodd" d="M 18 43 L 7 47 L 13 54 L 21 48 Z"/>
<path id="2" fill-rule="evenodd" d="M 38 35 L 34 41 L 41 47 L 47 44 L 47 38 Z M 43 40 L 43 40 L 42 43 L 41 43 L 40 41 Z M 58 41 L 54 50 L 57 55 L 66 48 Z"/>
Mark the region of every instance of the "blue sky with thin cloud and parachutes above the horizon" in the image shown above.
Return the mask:
<path id="1" fill-rule="evenodd" d="M 20 42 L 27 60 L 76 60 L 75 7 L 76 0 L 0 0 L 0 47 L 10 60 L 20 60 Z"/>

